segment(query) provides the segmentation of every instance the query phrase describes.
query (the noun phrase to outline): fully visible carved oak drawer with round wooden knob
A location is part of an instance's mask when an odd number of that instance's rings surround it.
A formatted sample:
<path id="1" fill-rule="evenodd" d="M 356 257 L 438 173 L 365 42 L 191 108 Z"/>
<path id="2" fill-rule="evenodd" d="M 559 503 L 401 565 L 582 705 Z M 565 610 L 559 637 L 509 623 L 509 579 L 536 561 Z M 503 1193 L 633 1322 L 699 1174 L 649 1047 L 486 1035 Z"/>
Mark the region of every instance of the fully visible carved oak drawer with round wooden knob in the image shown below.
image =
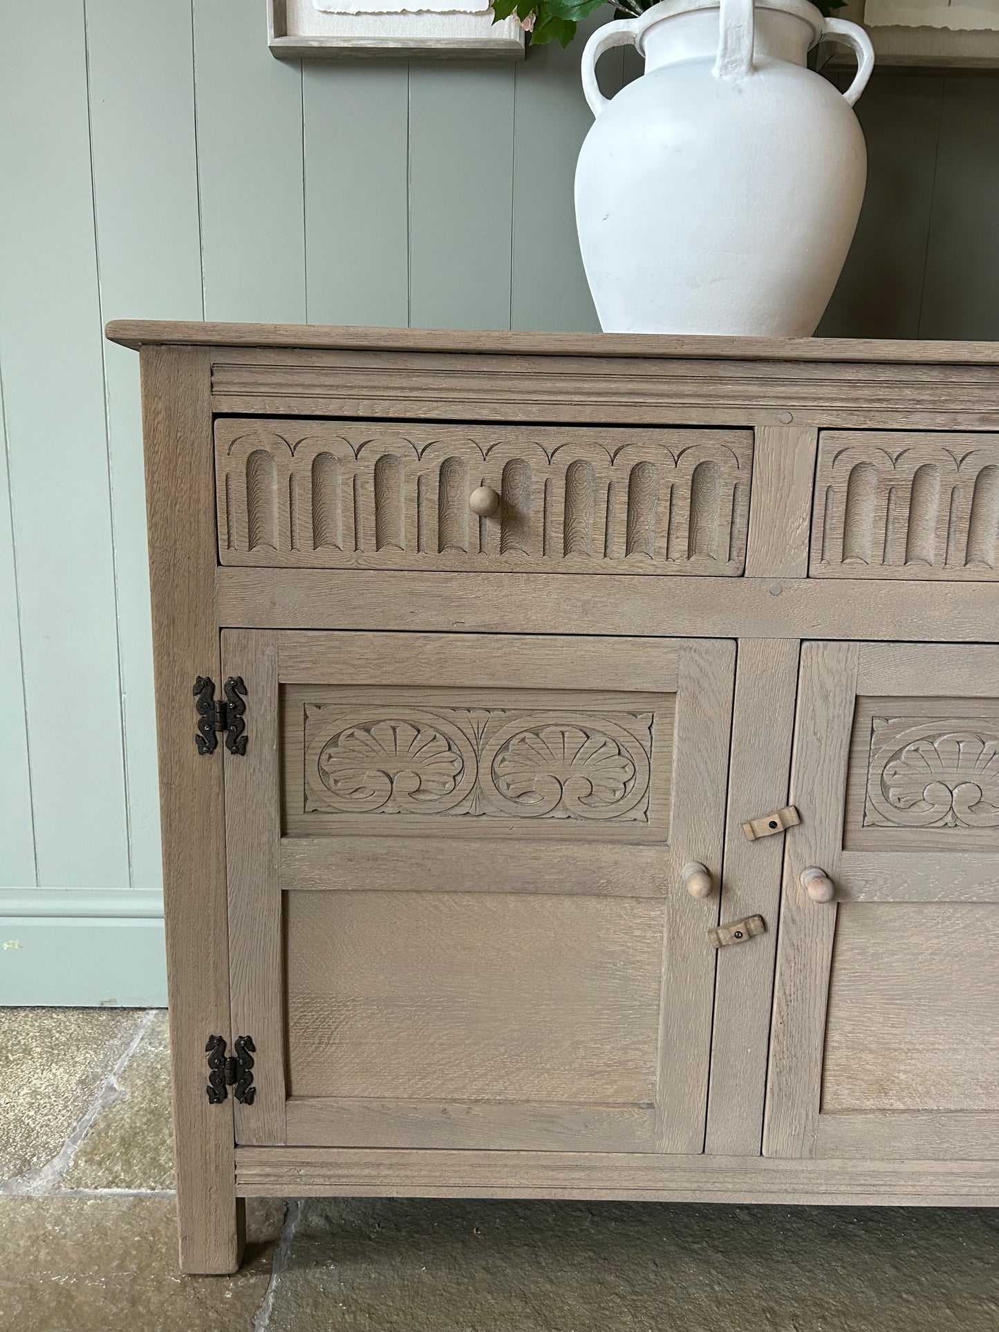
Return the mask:
<path id="1" fill-rule="evenodd" d="M 214 460 L 224 565 L 743 571 L 751 430 L 220 418 Z"/>

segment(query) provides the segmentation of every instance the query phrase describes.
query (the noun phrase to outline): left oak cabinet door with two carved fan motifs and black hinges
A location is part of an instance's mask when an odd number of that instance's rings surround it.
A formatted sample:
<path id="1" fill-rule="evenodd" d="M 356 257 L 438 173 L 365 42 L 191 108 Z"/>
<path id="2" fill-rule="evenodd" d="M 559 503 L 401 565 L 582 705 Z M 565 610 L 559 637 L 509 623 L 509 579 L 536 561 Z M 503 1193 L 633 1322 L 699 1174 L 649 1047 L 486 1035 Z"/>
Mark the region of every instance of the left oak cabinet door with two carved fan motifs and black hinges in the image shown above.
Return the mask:
<path id="1" fill-rule="evenodd" d="M 703 1147 L 731 642 L 226 631 L 237 1140 Z"/>

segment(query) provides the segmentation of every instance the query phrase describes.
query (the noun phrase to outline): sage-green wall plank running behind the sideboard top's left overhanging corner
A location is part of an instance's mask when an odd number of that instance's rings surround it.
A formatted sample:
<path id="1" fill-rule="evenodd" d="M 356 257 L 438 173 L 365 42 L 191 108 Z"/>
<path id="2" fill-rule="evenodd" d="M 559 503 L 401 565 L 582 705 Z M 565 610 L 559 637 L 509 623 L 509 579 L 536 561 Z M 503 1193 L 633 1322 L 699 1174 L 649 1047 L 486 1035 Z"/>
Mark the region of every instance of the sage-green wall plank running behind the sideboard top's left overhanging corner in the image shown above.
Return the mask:
<path id="1" fill-rule="evenodd" d="M 87 0 L 87 49 L 103 320 L 198 320 L 190 0 Z M 160 813 L 139 358 L 105 342 L 104 362 L 132 883 L 153 888 Z"/>

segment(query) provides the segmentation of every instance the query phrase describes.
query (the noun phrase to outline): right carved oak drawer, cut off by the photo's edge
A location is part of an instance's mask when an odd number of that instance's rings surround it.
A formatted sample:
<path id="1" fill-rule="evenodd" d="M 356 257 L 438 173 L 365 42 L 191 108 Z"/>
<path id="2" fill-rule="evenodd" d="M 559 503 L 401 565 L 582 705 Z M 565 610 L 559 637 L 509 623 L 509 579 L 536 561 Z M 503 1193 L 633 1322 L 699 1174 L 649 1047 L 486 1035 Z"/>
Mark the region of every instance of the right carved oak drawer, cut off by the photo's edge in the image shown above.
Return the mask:
<path id="1" fill-rule="evenodd" d="M 999 578 L 999 434 L 823 430 L 810 573 Z"/>

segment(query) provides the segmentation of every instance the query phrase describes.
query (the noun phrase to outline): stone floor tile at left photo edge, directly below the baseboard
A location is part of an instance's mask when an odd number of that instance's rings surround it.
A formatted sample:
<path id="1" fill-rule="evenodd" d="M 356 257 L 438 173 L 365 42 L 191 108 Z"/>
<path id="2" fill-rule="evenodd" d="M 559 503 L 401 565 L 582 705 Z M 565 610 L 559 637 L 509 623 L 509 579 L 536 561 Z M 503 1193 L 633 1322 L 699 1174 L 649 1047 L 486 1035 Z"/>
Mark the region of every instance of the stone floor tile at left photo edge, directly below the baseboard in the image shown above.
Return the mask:
<path id="1" fill-rule="evenodd" d="M 0 1181 L 57 1155 L 141 1019 L 141 1008 L 0 1008 Z"/>

